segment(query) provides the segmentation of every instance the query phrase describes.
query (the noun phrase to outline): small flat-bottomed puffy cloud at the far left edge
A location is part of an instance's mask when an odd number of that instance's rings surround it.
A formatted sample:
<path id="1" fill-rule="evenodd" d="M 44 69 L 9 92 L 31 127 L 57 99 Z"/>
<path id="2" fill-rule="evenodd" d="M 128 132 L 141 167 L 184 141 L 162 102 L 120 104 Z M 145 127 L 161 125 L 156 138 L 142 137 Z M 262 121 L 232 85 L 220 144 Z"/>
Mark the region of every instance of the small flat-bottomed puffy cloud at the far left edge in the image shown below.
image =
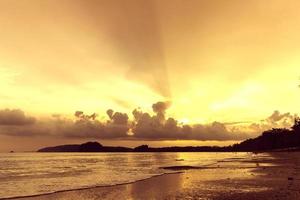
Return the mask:
<path id="1" fill-rule="evenodd" d="M 0 110 L 0 125 L 23 126 L 35 123 L 34 117 L 25 116 L 25 113 L 19 109 Z"/>

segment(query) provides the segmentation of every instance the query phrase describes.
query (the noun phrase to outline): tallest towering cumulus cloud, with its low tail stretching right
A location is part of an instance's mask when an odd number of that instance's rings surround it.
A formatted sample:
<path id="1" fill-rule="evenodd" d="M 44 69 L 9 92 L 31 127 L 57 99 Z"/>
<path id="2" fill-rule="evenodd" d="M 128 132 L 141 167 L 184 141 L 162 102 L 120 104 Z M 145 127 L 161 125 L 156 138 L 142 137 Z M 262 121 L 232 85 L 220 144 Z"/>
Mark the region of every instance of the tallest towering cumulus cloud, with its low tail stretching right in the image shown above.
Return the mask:
<path id="1" fill-rule="evenodd" d="M 230 131 L 225 124 L 181 125 L 172 117 L 166 118 L 170 102 L 157 102 L 152 105 L 155 115 L 135 109 L 132 113 L 135 126 L 132 128 L 134 138 L 144 140 L 240 140 L 249 135 Z"/>

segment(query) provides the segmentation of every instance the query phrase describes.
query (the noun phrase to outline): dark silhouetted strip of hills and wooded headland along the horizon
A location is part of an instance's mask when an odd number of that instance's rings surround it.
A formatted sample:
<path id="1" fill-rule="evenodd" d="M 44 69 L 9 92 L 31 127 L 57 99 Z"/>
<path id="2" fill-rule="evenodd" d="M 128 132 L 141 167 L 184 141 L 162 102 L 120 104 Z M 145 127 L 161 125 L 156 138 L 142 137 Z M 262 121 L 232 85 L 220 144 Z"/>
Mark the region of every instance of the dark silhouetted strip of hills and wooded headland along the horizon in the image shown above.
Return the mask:
<path id="1" fill-rule="evenodd" d="M 135 148 L 103 146 L 98 142 L 45 147 L 38 152 L 259 152 L 300 151 L 300 119 L 295 119 L 290 129 L 274 128 L 264 131 L 259 137 L 241 143 L 219 146 L 158 147 L 141 145 Z"/>

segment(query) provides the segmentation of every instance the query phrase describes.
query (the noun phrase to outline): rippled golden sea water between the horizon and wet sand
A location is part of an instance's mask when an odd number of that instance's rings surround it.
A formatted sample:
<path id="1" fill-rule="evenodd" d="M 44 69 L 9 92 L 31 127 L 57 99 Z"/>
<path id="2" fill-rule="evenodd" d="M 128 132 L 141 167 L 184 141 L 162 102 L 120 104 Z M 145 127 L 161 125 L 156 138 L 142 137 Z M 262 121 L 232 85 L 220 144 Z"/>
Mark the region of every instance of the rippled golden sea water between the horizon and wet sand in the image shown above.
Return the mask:
<path id="1" fill-rule="evenodd" d="M 0 199 L 115 185 L 171 173 L 166 166 L 207 166 L 248 153 L 2 153 Z"/>

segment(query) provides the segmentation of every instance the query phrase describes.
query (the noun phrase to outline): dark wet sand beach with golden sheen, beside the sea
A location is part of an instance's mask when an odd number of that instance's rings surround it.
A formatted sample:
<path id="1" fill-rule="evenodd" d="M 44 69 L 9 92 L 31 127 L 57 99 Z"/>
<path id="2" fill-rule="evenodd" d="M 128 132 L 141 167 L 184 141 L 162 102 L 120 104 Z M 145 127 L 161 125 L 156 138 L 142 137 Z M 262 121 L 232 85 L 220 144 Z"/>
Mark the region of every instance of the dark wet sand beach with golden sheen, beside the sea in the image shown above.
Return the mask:
<path id="1" fill-rule="evenodd" d="M 203 168 L 166 167 L 173 174 L 116 186 L 15 199 L 300 199 L 299 152 L 253 154 L 247 160 L 228 159 Z"/>

